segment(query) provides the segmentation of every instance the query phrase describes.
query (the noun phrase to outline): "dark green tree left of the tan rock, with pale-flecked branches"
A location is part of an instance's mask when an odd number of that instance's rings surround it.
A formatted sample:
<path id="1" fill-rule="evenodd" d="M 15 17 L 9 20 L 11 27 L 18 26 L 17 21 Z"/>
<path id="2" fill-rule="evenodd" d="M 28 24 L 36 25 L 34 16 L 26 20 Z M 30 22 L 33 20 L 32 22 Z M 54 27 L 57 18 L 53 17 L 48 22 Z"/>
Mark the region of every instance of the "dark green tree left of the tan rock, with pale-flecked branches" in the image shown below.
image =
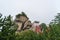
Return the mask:
<path id="1" fill-rule="evenodd" d="M 17 25 L 12 20 L 11 15 L 5 16 L 3 19 L 0 19 L 1 35 L 0 40 L 13 40 L 15 39 L 15 32 Z"/>

